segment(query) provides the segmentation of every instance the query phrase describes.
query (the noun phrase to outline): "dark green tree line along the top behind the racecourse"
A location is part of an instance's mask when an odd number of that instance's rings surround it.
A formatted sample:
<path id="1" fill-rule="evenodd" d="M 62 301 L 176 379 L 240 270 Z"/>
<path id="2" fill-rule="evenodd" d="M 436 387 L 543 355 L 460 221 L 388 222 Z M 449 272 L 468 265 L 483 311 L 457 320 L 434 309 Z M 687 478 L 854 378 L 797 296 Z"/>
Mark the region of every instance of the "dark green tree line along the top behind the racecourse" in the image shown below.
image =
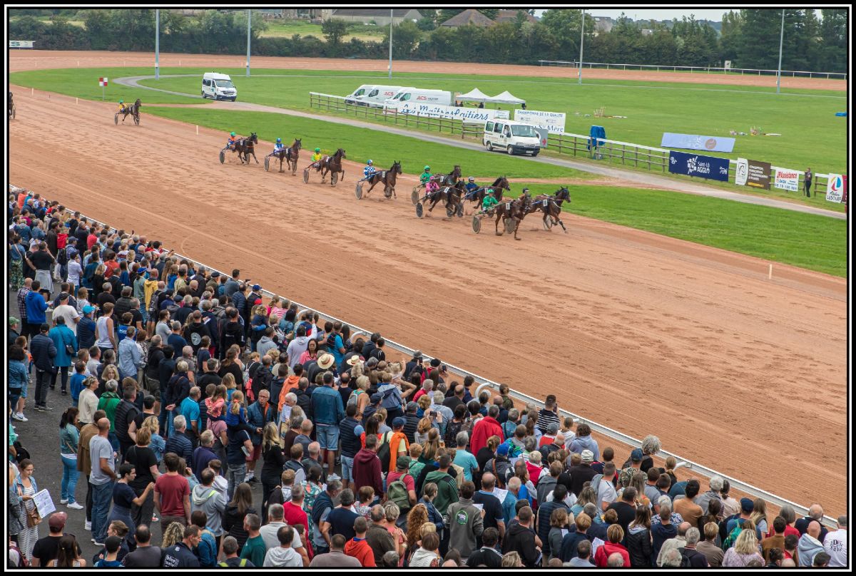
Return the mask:
<path id="1" fill-rule="evenodd" d="M 49 10 L 44 10 L 48 11 Z M 443 27 L 446 16 L 460 10 L 440 10 L 420 21 L 393 27 L 396 59 L 449 62 L 534 64 L 538 60 L 574 61 L 580 54 L 581 11 L 550 9 L 538 22 L 520 11 L 514 21 L 492 27 Z M 56 14 L 40 21 L 39 10 L 9 10 L 9 38 L 35 40 L 42 50 L 154 50 L 152 9 L 82 10 L 74 17 Z M 63 11 L 56 11 L 63 12 Z M 496 10 L 482 10 L 493 15 Z M 785 9 L 782 68 L 847 72 L 847 9 Z M 17 16 L 17 17 L 15 17 Z M 450 17 L 450 16 L 449 16 Z M 584 60 L 663 66 L 775 69 L 779 57 L 782 11 L 740 9 L 722 15 L 722 32 L 693 16 L 680 21 L 634 22 L 622 15 L 609 31 L 597 30 L 586 13 Z M 379 42 L 350 39 L 348 23 L 331 19 L 322 26 L 324 39 L 294 34 L 291 38 L 259 37 L 265 21 L 252 16 L 252 51 L 258 56 L 327 56 L 383 58 L 389 29 Z M 205 10 L 197 15 L 161 10 L 160 48 L 169 52 L 244 54 L 247 50 L 247 14 L 244 11 Z"/>

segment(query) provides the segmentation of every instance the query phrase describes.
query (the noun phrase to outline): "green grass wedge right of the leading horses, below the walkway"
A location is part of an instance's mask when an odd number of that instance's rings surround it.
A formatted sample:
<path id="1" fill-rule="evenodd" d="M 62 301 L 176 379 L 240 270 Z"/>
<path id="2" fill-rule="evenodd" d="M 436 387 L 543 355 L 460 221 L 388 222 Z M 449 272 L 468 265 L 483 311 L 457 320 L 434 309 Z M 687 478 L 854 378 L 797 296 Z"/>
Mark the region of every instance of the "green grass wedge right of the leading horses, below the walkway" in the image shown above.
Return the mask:
<path id="1" fill-rule="evenodd" d="M 533 196 L 558 188 L 528 186 Z M 515 184 L 510 196 L 516 198 L 522 187 Z M 847 277 L 845 220 L 663 190 L 589 185 L 569 190 L 571 203 L 563 208 L 573 214 Z"/>

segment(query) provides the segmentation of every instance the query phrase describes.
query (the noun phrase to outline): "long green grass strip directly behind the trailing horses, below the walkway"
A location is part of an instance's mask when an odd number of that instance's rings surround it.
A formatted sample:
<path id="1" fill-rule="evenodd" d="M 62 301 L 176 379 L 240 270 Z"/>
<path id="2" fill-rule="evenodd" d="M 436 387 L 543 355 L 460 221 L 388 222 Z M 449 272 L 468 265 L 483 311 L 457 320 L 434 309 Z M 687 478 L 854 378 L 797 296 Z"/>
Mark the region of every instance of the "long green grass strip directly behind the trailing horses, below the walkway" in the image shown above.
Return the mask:
<path id="1" fill-rule="evenodd" d="M 277 137 L 291 144 L 300 138 L 309 157 L 309 150 L 316 146 L 325 153 L 343 148 L 348 159 L 364 162 L 372 158 L 378 169 L 385 169 L 395 160 L 401 161 L 401 169 L 406 174 L 419 174 L 422 167 L 429 163 L 437 171 L 449 171 L 455 164 L 461 164 L 465 175 L 506 175 L 508 178 L 578 178 L 578 170 L 535 164 L 518 157 L 503 154 L 490 154 L 483 151 L 461 150 L 447 145 L 414 140 L 396 134 L 372 133 L 366 137 L 361 128 L 342 126 L 332 122 L 298 118 L 266 112 L 243 112 L 229 110 L 205 110 L 198 108 L 162 108 L 152 106 L 146 109 L 148 114 L 163 116 L 181 122 L 199 124 L 207 128 L 223 131 L 225 134 L 235 131 L 238 134 L 255 132 L 259 140 L 272 142 Z M 224 140 L 225 141 L 225 140 Z M 270 149 L 261 146 L 267 154 Z M 211 151 L 216 153 L 216 151 Z"/>

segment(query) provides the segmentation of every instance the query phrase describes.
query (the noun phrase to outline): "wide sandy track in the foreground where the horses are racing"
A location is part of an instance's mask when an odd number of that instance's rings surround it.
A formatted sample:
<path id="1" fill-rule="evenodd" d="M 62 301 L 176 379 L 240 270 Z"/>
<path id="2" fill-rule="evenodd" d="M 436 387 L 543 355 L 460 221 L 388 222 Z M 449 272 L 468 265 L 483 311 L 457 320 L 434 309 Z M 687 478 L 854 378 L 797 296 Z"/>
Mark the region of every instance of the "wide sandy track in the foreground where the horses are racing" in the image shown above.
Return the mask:
<path id="1" fill-rule="evenodd" d="M 764 260 L 573 215 L 567 235 L 475 235 L 418 220 L 413 176 L 395 201 L 357 200 L 355 163 L 336 188 L 304 184 L 221 165 L 222 133 L 17 105 L 15 184 L 780 496 L 845 505 L 844 279 L 775 264 L 768 281 Z"/>

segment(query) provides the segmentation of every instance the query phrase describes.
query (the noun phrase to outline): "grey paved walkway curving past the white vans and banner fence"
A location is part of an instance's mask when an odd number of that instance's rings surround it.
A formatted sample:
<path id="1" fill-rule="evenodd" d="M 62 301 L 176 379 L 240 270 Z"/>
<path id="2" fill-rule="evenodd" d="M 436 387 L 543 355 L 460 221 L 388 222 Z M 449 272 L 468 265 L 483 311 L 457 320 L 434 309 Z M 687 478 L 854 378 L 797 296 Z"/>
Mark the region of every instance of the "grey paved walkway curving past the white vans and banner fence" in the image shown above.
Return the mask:
<path id="1" fill-rule="evenodd" d="M 161 74 L 161 78 L 185 78 L 185 77 L 196 77 L 199 74 Z M 116 84 L 121 84 L 122 86 L 130 86 L 133 88 L 142 88 L 145 90 L 154 90 L 156 92 L 166 92 L 168 94 L 175 94 L 176 96 L 187 96 L 190 98 L 194 98 L 195 94 L 188 94 L 187 92 L 173 92 L 171 90 L 163 90 L 161 88 L 152 88 L 151 86 L 143 86 L 140 84 L 140 80 L 150 80 L 153 79 L 154 76 L 127 76 L 124 78 L 117 78 L 113 80 Z M 422 134 L 419 132 L 414 132 L 413 130 L 407 130 L 406 128 L 396 128 L 392 126 L 378 126 L 376 123 L 372 122 L 361 122 L 359 120 L 352 120 L 350 118 L 338 118 L 336 116 L 324 116 L 320 114 L 312 114 L 309 112 L 301 112 L 299 110 L 288 110 L 284 108 L 276 108 L 275 106 L 265 106 L 264 104 L 252 104 L 248 102 L 216 102 L 211 104 L 200 104 L 205 105 L 205 107 L 211 108 L 211 106 L 216 107 L 218 110 L 244 110 L 244 111 L 253 111 L 253 112 L 269 112 L 271 114 L 284 114 L 286 116 L 298 116 L 300 118 L 309 118 L 312 120 L 320 120 L 322 122 L 334 122 L 336 124 L 344 124 L 347 126 L 353 126 L 354 128 L 365 128 L 366 130 L 377 130 L 380 132 L 384 132 L 386 134 L 396 134 L 399 136 L 404 136 L 406 138 L 414 138 L 416 140 L 423 140 L 425 142 L 433 142 L 436 144 L 444 144 L 455 146 L 457 148 L 464 148 L 466 150 L 480 151 L 485 154 L 490 154 L 494 152 L 488 152 L 484 150 L 484 146 L 472 142 L 464 142 L 462 140 L 454 140 L 451 138 L 437 136 L 436 134 Z M 620 168 L 611 168 L 606 166 L 597 166 L 596 164 L 580 162 L 579 160 L 566 160 L 564 158 L 556 158 L 556 157 L 521 157 L 530 162 L 540 162 L 553 164 L 556 166 L 562 166 L 563 168 L 572 168 L 577 169 L 582 172 L 588 172 L 590 174 L 596 174 L 601 176 L 609 176 L 611 178 L 620 178 L 621 180 L 626 181 L 634 181 L 639 182 L 641 184 L 645 184 L 646 186 L 657 187 L 663 190 L 675 190 L 677 192 L 683 193 L 691 193 L 698 194 L 702 196 L 710 196 L 712 198 L 726 199 L 726 200 L 734 200 L 735 202 L 743 202 L 744 204 L 754 204 L 761 206 L 770 206 L 772 208 L 781 208 L 782 210 L 790 210 L 795 212 L 804 212 L 805 214 L 815 214 L 817 216 L 825 216 L 838 218 L 840 220 L 847 219 L 847 214 L 841 212 L 835 212 L 830 210 L 823 210 L 823 208 L 815 208 L 814 206 L 800 205 L 792 202 L 786 202 L 784 200 L 772 199 L 772 198 L 762 198 L 759 196 L 750 196 L 747 194 L 740 194 L 734 192 L 728 192 L 727 190 L 720 190 L 714 187 L 708 187 L 700 184 L 696 184 L 691 181 L 681 181 L 681 180 L 673 180 L 671 178 L 665 178 L 663 176 L 646 174 L 644 172 L 635 172 L 632 170 L 620 169 Z"/>

